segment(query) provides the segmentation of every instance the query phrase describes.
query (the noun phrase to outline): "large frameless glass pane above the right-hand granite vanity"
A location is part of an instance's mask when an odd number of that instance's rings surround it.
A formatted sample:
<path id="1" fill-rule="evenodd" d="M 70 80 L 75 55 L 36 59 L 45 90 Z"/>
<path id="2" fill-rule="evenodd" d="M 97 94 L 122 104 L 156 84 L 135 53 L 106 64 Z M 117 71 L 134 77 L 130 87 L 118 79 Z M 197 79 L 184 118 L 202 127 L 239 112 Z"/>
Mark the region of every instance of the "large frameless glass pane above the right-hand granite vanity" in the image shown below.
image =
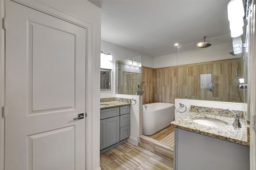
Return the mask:
<path id="1" fill-rule="evenodd" d="M 197 48 L 195 41 L 177 47 L 177 98 L 245 102 L 244 89 L 239 88 L 244 49 L 235 54 L 230 33 L 206 41 L 211 46 Z"/>

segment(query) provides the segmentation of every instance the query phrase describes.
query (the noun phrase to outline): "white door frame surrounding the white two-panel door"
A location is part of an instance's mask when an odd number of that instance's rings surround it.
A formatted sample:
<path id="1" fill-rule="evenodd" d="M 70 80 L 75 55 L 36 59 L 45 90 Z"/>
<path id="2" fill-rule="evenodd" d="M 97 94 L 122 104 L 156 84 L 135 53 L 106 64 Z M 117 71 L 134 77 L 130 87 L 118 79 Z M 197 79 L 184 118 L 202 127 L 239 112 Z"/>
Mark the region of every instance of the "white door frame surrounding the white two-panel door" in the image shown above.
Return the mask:
<path id="1" fill-rule="evenodd" d="M 60 10 L 54 9 L 50 6 L 47 6 L 45 4 L 42 4 L 40 2 L 34 1 L 34 0 L 13 0 L 15 2 L 18 2 L 20 4 L 23 4 L 25 6 L 28 6 L 30 8 L 36 9 L 38 11 L 44 12 L 46 14 L 49 14 L 51 16 L 54 16 L 56 18 L 60 18 L 62 20 L 68 21 L 70 23 L 74 23 L 75 25 L 79 25 L 81 27 L 86 28 L 86 169 L 95 169 L 99 168 L 99 158 L 100 158 L 100 100 L 97 98 L 97 96 L 100 96 L 100 80 L 99 79 L 93 79 L 95 75 L 100 76 L 100 71 L 98 73 L 95 73 L 95 67 L 98 67 L 100 70 L 100 45 L 97 47 L 93 47 L 95 45 L 93 39 L 93 33 L 92 33 L 92 23 L 89 23 L 87 21 L 81 20 L 77 17 L 72 16 L 71 14 L 67 14 L 65 12 L 62 12 Z M 86 10 L 86 9 L 85 9 Z M 4 6 L 4 0 L 0 0 L 0 169 L 4 170 L 4 118 L 2 117 L 2 106 L 4 106 L 4 45 L 5 45 L 5 37 L 4 37 L 4 29 L 2 27 L 2 18 L 4 18 L 5 14 L 5 6 Z M 7 26 L 8 29 L 8 26 Z M 100 29 L 99 29 L 100 30 Z M 100 34 L 100 32 L 99 32 Z M 100 44 L 100 39 L 99 39 Z M 98 53 L 97 53 L 98 51 Z M 98 64 L 97 64 L 98 63 Z M 93 65 L 94 64 L 94 65 Z M 96 64 L 96 65 L 95 65 Z M 94 69 L 93 69 L 94 68 Z M 96 91 L 98 89 L 98 91 Z M 94 97 L 95 95 L 92 95 L 93 93 L 99 93 Z M 98 107 L 97 107 L 98 106 Z M 95 123 L 95 120 L 98 120 L 97 123 Z M 94 133 L 94 131 L 98 131 L 98 133 Z M 95 160 L 95 158 L 98 158 Z"/>

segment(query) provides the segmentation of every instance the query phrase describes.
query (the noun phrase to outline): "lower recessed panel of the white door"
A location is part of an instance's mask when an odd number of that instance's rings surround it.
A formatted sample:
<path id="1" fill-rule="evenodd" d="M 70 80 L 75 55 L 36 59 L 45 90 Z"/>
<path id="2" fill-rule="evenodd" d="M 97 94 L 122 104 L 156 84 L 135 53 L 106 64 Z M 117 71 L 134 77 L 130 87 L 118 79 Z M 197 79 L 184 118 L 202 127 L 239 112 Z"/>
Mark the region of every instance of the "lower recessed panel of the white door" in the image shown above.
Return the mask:
<path id="1" fill-rule="evenodd" d="M 28 166 L 30 169 L 74 170 L 74 135 L 74 126 L 29 135 Z M 59 154 L 62 156 L 58 156 Z"/>

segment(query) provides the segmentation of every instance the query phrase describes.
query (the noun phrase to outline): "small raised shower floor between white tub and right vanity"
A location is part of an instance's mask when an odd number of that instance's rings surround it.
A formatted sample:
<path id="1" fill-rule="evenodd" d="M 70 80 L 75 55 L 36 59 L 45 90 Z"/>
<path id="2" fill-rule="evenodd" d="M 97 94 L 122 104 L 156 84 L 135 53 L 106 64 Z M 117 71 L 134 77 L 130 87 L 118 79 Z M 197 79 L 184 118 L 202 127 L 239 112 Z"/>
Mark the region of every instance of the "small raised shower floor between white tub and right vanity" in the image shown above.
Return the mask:
<path id="1" fill-rule="evenodd" d="M 165 143 L 170 146 L 174 146 L 174 127 L 168 126 L 161 131 L 156 132 L 153 135 L 148 135 L 148 137 Z"/>

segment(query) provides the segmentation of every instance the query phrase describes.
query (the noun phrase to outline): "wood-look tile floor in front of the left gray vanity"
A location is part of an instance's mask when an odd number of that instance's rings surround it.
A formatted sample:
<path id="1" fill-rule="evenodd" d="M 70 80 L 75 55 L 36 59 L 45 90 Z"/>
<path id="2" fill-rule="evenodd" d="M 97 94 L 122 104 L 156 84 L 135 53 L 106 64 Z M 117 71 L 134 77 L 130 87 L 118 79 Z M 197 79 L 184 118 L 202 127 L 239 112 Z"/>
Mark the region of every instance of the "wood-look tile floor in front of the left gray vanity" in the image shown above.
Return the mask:
<path id="1" fill-rule="evenodd" d="M 100 154 L 102 170 L 172 170 L 173 163 L 128 142 Z"/>

